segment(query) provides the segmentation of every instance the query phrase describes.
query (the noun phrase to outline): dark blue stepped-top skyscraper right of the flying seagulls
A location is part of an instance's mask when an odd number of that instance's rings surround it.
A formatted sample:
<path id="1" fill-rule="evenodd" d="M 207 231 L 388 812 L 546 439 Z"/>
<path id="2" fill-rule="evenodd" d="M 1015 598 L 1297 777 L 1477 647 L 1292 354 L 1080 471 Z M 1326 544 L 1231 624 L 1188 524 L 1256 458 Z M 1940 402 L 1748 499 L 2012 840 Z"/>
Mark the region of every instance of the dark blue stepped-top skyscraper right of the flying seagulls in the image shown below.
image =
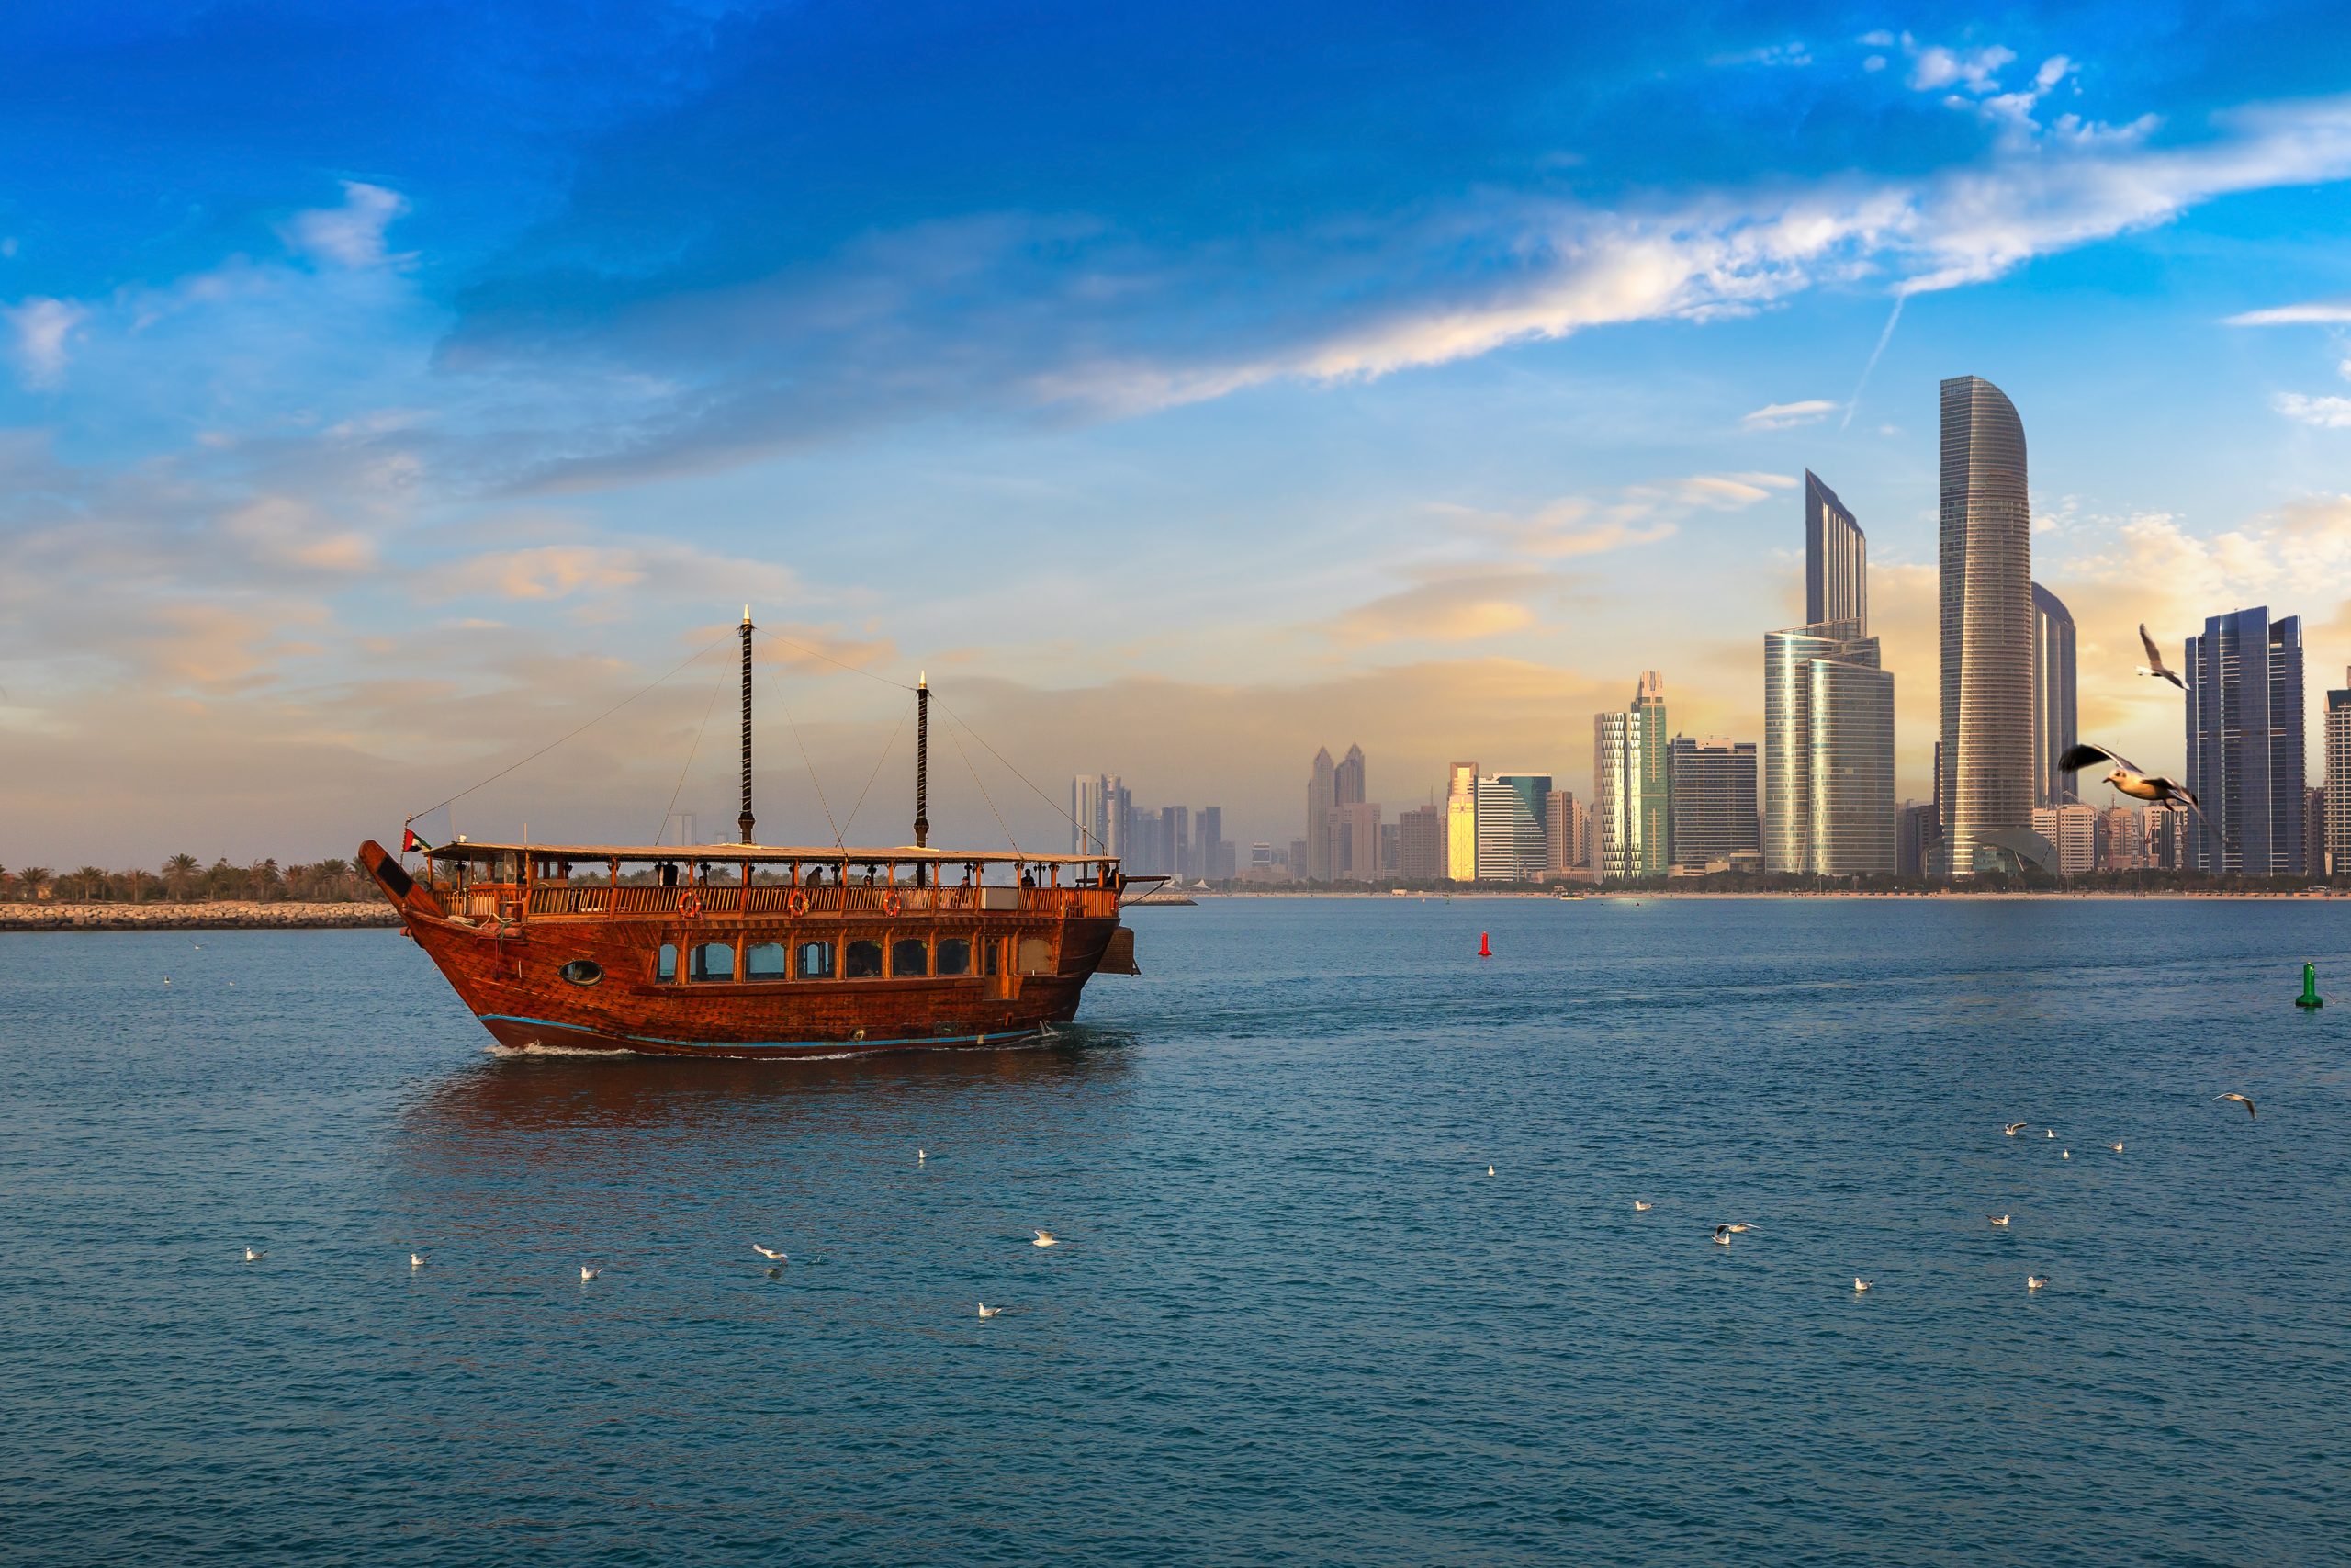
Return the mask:
<path id="1" fill-rule="evenodd" d="M 2186 865 L 2302 875 L 2302 616 L 2271 621 L 2266 604 L 2210 616 L 2182 675 L 2189 790 L 2210 823 L 2186 825 Z"/>

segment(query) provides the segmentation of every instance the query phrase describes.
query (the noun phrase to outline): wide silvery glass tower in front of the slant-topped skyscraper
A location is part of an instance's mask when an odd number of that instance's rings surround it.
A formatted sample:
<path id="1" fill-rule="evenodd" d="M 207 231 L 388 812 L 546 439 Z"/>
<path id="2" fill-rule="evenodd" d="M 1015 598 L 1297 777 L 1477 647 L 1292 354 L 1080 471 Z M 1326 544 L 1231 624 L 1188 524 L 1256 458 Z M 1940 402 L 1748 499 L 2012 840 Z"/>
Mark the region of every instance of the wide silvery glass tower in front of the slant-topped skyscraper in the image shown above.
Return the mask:
<path id="1" fill-rule="evenodd" d="M 1860 621 L 1763 635 L 1763 870 L 1893 872 L 1895 677 Z"/>

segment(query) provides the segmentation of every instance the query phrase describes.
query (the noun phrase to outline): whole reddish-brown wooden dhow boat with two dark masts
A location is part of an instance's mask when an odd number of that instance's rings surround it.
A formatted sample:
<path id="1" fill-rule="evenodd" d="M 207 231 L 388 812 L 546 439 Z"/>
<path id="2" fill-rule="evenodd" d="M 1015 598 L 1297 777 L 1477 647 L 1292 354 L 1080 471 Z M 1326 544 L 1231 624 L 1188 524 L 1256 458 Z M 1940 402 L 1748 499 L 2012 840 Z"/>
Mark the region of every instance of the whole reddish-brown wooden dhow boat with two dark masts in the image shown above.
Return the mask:
<path id="1" fill-rule="evenodd" d="M 505 1046 L 837 1056 L 997 1046 L 1136 973 L 1117 856 L 931 849 L 929 682 L 915 689 L 915 842 L 766 846 L 750 809 L 743 614 L 741 842 L 421 844 L 360 865 Z M 407 856 L 421 851 L 418 870 Z"/>

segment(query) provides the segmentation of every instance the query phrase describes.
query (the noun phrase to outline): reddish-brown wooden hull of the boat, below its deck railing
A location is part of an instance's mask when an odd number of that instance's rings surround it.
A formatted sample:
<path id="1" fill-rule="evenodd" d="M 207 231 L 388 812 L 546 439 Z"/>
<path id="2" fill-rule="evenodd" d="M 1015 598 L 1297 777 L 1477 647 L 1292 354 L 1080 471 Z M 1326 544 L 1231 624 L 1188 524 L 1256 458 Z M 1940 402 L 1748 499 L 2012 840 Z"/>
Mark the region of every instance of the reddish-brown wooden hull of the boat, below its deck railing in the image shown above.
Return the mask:
<path id="1" fill-rule="evenodd" d="M 400 910 L 407 933 L 433 959 L 489 1034 L 513 1048 L 618 1051 L 637 1056 L 792 1058 L 849 1051 L 1004 1046 L 1037 1039 L 1077 1016 L 1086 980 L 1119 931 L 1110 917 L 1025 907 L 809 910 L 799 917 L 597 914 L 557 919 L 473 919 L 442 910 L 433 889 L 407 877 L 376 844 L 360 863 Z M 896 900 L 893 900 L 896 903 Z M 837 952 L 875 940 L 884 952 L 917 940 L 938 952 L 969 943 L 962 976 L 689 980 L 679 954 L 698 945 L 743 954 L 776 943 L 795 952 L 825 940 Z M 569 980 L 581 966 L 590 983 Z"/>

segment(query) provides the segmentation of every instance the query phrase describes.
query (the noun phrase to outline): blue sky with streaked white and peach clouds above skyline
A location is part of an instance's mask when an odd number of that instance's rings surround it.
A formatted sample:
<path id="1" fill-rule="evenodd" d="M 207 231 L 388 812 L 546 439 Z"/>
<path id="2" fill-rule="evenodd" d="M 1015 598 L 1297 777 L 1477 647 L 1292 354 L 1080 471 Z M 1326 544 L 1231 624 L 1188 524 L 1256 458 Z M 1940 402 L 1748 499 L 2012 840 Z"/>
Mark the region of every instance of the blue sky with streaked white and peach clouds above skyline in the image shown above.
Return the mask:
<path id="1" fill-rule="evenodd" d="M 1951 374 L 2024 416 L 2085 729 L 2177 764 L 2142 618 L 2269 602 L 2332 682 L 2351 16 L 1629 9 L 0 16 L 0 863 L 348 851 L 743 599 L 764 837 L 900 717 L 799 649 L 1244 839 L 1317 745 L 1585 790 L 1643 668 L 1759 733 L 1806 468 L 1923 792 Z M 456 827 L 731 816 L 717 677 Z M 943 832 L 1053 844 L 971 750 Z"/>

